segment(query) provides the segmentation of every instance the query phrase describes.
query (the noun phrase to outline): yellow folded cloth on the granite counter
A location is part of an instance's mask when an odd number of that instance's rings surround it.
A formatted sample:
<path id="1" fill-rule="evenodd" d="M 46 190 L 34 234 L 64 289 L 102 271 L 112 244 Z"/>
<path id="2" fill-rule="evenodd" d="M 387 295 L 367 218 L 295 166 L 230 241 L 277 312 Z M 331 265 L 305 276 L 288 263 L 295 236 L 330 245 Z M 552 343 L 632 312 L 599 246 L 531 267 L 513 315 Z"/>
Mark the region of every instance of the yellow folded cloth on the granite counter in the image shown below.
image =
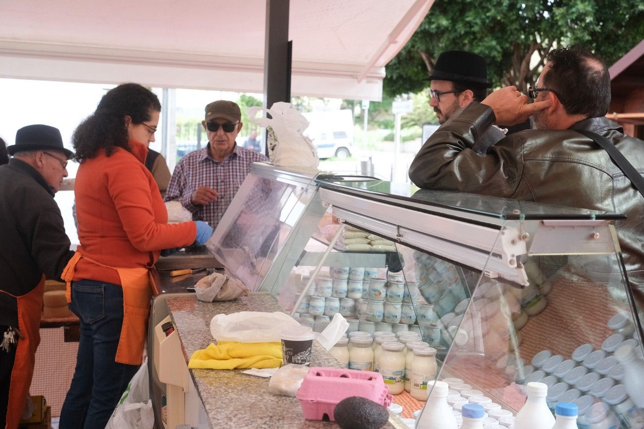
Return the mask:
<path id="1" fill-rule="evenodd" d="M 282 363 L 281 343 L 211 343 L 193 353 L 191 369 L 278 368 Z"/>

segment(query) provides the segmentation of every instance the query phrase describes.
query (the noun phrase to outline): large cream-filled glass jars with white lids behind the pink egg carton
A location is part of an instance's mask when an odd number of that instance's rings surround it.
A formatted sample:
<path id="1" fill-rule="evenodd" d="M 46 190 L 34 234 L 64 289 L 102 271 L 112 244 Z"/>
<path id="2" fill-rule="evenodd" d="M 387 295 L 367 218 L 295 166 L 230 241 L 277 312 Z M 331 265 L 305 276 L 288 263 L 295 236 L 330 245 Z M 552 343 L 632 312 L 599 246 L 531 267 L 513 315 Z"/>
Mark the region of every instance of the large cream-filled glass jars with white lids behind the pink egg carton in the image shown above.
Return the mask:
<path id="1" fill-rule="evenodd" d="M 419 401 L 427 400 L 427 383 L 438 370 L 436 349 L 417 333 L 354 331 L 343 336 L 331 354 L 349 369 L 380 372 L 391 394 L 404 390 Z"/>

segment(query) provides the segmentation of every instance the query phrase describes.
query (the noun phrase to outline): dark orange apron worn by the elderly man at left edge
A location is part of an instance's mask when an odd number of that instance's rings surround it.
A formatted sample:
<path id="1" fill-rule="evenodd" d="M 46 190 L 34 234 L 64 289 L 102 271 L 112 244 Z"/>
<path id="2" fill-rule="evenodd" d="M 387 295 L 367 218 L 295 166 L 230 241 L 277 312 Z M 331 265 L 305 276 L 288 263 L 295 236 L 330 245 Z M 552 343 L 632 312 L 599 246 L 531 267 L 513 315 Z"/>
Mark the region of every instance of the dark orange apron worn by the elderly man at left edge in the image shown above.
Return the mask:
<path id="1" fill-rule="evenodd" d="M 36 349 L 40 343 L 40 320 L 43 312 L 44 275 L 38 286 L 18 301 L 18 329 L 24 338 L 18 338 L 15 349 L 14 369 L 9 385 L 9 402 L 6 408 L 6 427 L 17 428 L 23 415 L 27 393 L 32 384 Z"/>

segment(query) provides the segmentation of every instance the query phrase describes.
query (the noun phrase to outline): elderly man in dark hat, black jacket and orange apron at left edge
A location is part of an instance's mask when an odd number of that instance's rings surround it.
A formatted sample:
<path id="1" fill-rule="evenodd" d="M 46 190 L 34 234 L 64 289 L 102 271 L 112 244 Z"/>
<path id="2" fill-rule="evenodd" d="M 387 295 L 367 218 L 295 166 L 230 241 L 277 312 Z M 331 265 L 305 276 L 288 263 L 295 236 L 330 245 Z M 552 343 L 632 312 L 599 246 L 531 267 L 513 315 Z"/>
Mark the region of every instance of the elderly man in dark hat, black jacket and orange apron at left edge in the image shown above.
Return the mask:
<path id="1" fill-rule="evenodd" d="M 0 166 L 0 427 L 16 428 L 32 381 L 44 279 L 60 278 L 70 239 L 53 195 L 73 156 L 48 125 L 19 129 Z"/>

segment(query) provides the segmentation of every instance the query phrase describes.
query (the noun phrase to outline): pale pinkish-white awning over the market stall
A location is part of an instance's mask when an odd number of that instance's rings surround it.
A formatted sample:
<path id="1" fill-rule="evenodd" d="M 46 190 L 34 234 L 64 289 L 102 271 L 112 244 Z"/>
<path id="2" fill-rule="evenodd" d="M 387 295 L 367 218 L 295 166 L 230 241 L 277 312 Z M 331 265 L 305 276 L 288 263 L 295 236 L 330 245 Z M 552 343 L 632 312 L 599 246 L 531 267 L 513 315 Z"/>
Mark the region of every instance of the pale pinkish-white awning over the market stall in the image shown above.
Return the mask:
<path id="1" fill-rule="evenodd" d="M 379 100 L 433 0 L 290 0 L 292 95 Z M 263 92 L 263 0 L 8 0 L 0 77 Z"/>

